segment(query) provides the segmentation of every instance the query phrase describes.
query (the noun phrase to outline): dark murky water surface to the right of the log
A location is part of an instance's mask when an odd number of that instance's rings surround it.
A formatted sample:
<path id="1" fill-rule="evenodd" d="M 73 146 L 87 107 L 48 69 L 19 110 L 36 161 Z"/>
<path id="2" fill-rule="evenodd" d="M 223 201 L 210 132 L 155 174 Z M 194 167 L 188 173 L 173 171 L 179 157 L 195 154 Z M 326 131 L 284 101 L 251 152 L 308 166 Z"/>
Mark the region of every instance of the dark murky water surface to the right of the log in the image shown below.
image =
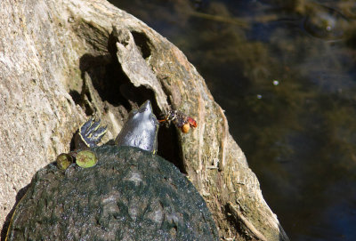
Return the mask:
<path id="1" fill-rule="evenodd" d="M 292 240 L 356 240 L 355 1 L 111 2 L 198 68 Z"/>

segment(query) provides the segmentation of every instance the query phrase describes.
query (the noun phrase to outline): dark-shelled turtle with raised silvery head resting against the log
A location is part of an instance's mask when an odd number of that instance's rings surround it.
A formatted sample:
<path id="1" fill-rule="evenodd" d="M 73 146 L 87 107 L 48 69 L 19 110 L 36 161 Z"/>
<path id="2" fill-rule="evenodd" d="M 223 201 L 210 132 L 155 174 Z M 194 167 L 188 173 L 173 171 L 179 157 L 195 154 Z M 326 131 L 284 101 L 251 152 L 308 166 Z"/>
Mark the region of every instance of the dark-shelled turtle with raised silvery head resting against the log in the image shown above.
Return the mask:
<path id="1" fill-rule="evenodd" d="M 129 113 L 111 145 L 98 145 L 106 128 L 89 119 L 79 148 L 62 155 L 76 162 L 34 175 L 5 240 L 219 240 L 198 190 L 156 154 L 158 127 L 150 100 Z M 92 165 L 77 164 L 85 151 Z"/>

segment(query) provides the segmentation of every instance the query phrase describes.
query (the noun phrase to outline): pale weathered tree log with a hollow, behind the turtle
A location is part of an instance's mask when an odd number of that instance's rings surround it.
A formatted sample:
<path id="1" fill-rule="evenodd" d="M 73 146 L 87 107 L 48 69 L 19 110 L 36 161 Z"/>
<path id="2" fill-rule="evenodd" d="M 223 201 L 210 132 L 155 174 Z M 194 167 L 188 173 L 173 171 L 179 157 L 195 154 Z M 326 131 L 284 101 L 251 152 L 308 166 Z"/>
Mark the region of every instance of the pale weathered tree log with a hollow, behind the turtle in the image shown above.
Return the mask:
<path id="1" fill-rule="evenodd" d="M 188 134 L 161 127 L 158 154 L 188 174 L 222 239 L 287 240 L 223 109 L 174 44 L 103 0 L 3 0 L 0 13 L 2 222 L 85 116 L 101 117 L 108 141 L 150 99 L 158 116 L 175 108 L 198 121 Z"/>

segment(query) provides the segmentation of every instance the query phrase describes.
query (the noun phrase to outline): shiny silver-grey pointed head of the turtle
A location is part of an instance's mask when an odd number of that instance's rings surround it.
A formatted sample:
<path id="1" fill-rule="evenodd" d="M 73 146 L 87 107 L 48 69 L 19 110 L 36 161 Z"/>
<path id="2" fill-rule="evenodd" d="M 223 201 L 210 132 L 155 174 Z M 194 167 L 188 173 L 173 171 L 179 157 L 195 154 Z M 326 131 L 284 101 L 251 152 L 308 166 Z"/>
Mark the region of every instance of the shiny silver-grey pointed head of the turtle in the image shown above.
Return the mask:
<path id="1" fill-rule="evenodd" d="M 136 147 L 156 153 L 158 120 L 152 113 L 150 100 L 146 100 L 139 109 L 130 112 L 125 125 L 118 133 L 117 146 Z"/>

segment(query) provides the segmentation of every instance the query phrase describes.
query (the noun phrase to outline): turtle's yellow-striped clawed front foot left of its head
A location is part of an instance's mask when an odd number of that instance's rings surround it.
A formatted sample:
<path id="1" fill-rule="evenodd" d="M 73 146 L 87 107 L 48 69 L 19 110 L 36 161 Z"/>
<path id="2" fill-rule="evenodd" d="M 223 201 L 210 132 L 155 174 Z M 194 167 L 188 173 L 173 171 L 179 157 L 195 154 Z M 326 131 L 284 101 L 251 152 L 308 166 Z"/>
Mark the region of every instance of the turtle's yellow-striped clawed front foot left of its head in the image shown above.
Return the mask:
<path id="1" fill-rule="evenodd" d="M 94 121 L 94 118 L 91 117 L 85 124 L 79 127 L 80 139 L 85 142 L 87 147 L 96 147 L 106 133 L 107 127 L 102 127 L 100 125 L 101 120 Z"/>

